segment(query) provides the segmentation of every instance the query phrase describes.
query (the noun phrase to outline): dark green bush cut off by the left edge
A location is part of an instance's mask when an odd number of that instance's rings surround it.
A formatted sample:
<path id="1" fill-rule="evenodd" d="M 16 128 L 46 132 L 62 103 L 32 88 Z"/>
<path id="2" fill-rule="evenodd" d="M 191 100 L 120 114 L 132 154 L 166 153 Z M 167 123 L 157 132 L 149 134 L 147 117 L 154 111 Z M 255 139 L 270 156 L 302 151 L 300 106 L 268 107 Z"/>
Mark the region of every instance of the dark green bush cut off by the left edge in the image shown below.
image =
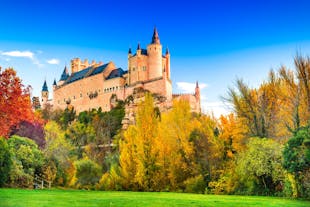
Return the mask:
<path id="1" fill-rule="evenodd" d="M 0 137 L 0 187 L 8 181 L 12 166 L 12 155 L 7 141 Z"/>

